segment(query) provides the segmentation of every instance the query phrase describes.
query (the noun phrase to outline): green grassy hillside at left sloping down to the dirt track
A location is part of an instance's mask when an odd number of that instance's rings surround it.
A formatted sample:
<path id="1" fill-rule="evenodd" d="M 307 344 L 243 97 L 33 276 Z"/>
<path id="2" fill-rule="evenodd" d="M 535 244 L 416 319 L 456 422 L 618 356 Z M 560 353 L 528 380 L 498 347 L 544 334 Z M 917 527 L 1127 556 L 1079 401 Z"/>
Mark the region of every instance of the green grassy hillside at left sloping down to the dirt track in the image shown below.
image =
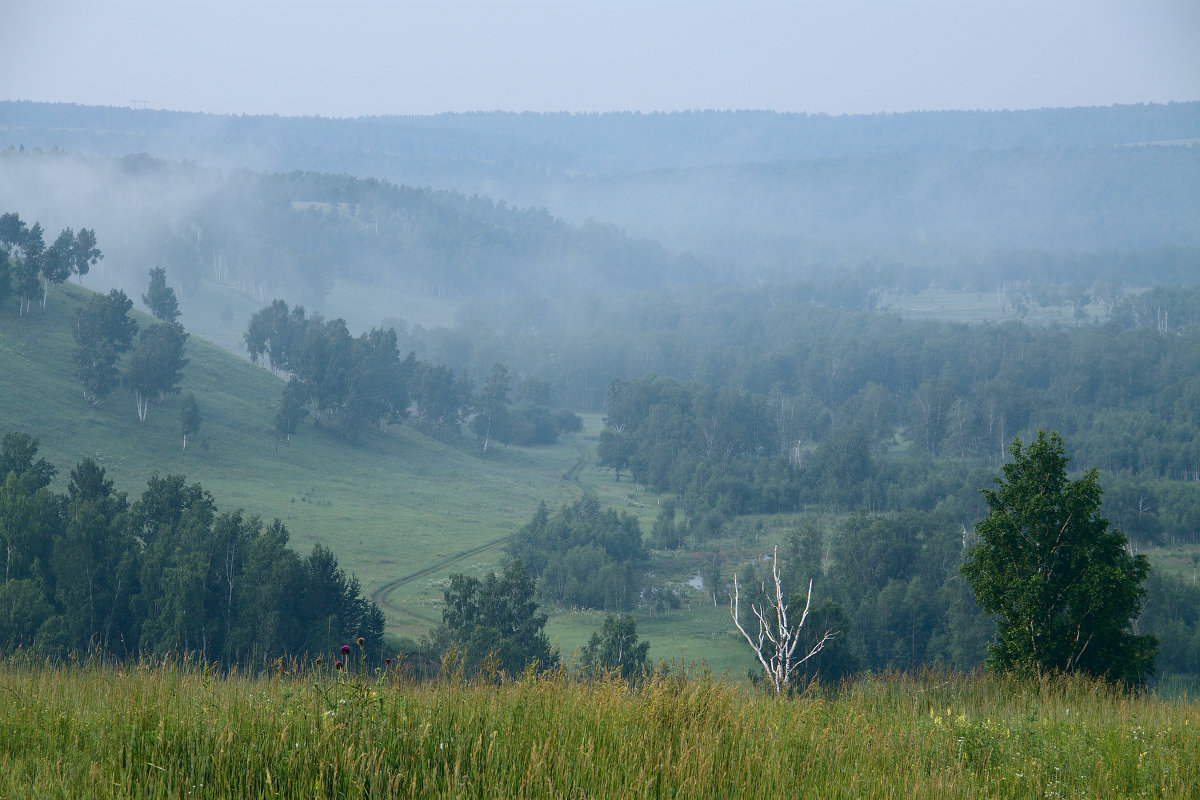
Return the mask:
<path id="1" fill-rule="evenodd" d="M 581 458 L 570 443 L 510 447 L 484 459 L 409 426 L 352 446 L 306 425 L 276 452 L 270 417 L 280 378 L 196 336 L 187 342 L 182 392 L 196 395 L 203 425 L 184 452 L 179 397 L 151 405 L 143 426 L 124 390 L 96 408 L 84 403 L 72 377 L 70 317 L 88 295 L 65 284 L 44 313 L 0 313 L 0 435 L 38 438 L 40 456 L 58 468 L 56 491 L 85 456 L 133 497 L 155 473 L 184 474 L 211 491 L 222 510 L 281 518 L 300 552 L 314 542 L 330 546 L 368 594 L 421 573 L 415 585 L 379 597 L 395 632 L 420 636 L 440 621 L 430 607 L 438 579 L 494 565 L 500 553 L 486 548 L 523 524 L 539 501 L 558 504 L 578 492 L 560 477 Z M 481 548 L 473 561 L 456 560 Z"/>

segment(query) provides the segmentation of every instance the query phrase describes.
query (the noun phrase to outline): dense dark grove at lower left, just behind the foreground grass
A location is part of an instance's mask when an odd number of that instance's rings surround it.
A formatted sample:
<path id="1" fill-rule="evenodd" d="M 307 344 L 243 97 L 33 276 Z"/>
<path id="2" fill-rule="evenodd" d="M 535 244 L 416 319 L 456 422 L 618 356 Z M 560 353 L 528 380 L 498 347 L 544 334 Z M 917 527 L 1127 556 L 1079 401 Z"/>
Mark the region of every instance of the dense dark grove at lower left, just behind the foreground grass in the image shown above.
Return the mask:
<path id="1" fill-rule="evenodd" d="M 37 440 L 0 443 L 0 652 L 193 656 L 262 668 L 361 637 L 382 657 L 384 618 L 336 555 L 288 546 L 280 522 L 218 511 L 199 483 L 154 475 L 131 499 L 90 458 L 71 470 Z"/>

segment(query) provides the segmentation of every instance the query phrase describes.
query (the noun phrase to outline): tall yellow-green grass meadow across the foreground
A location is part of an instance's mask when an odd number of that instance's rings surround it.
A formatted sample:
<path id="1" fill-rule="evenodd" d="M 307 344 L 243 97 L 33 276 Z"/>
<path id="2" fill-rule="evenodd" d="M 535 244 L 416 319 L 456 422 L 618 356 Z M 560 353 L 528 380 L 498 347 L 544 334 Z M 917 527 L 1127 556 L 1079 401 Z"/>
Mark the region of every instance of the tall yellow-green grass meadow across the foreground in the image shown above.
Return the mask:
<path id="1" fill-rule="evenodd" d="M 0 667 L 7 798 L 1194 798 L 1200 706 L 1084 681 L 413 684 Z"/>

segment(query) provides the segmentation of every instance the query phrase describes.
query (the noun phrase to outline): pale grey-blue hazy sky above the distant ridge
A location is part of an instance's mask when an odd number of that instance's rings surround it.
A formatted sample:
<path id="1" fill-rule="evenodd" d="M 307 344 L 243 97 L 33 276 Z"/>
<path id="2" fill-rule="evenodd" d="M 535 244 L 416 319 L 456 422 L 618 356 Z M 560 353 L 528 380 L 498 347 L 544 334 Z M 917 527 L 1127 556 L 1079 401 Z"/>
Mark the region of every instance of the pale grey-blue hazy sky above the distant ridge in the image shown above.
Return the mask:
<path id="1" fill-rule="evenodd" d="M 1200 100 L 1200 0 L 0 6 L 0 100 L 326 116 Z"/>

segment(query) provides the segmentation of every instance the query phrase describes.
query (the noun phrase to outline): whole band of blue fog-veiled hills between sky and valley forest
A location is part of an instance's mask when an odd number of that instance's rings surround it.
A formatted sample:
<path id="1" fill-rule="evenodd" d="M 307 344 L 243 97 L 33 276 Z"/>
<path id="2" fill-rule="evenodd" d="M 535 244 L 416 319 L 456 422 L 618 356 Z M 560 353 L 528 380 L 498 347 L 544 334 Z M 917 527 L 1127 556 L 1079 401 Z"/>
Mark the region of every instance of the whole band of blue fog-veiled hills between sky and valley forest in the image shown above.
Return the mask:
<path id="1" fill-rule="evenodd" d="M 1200 103 L 335 120 L 4 102 L 0 204 L 92 218 L 113 283 L 174 258 L 185 291 L 202 263 L 314 308 L 340 279 L 454 300 L 864 269 L 880 290 L 1147 287 L 1194 275 L 1198 140 Z"/>

